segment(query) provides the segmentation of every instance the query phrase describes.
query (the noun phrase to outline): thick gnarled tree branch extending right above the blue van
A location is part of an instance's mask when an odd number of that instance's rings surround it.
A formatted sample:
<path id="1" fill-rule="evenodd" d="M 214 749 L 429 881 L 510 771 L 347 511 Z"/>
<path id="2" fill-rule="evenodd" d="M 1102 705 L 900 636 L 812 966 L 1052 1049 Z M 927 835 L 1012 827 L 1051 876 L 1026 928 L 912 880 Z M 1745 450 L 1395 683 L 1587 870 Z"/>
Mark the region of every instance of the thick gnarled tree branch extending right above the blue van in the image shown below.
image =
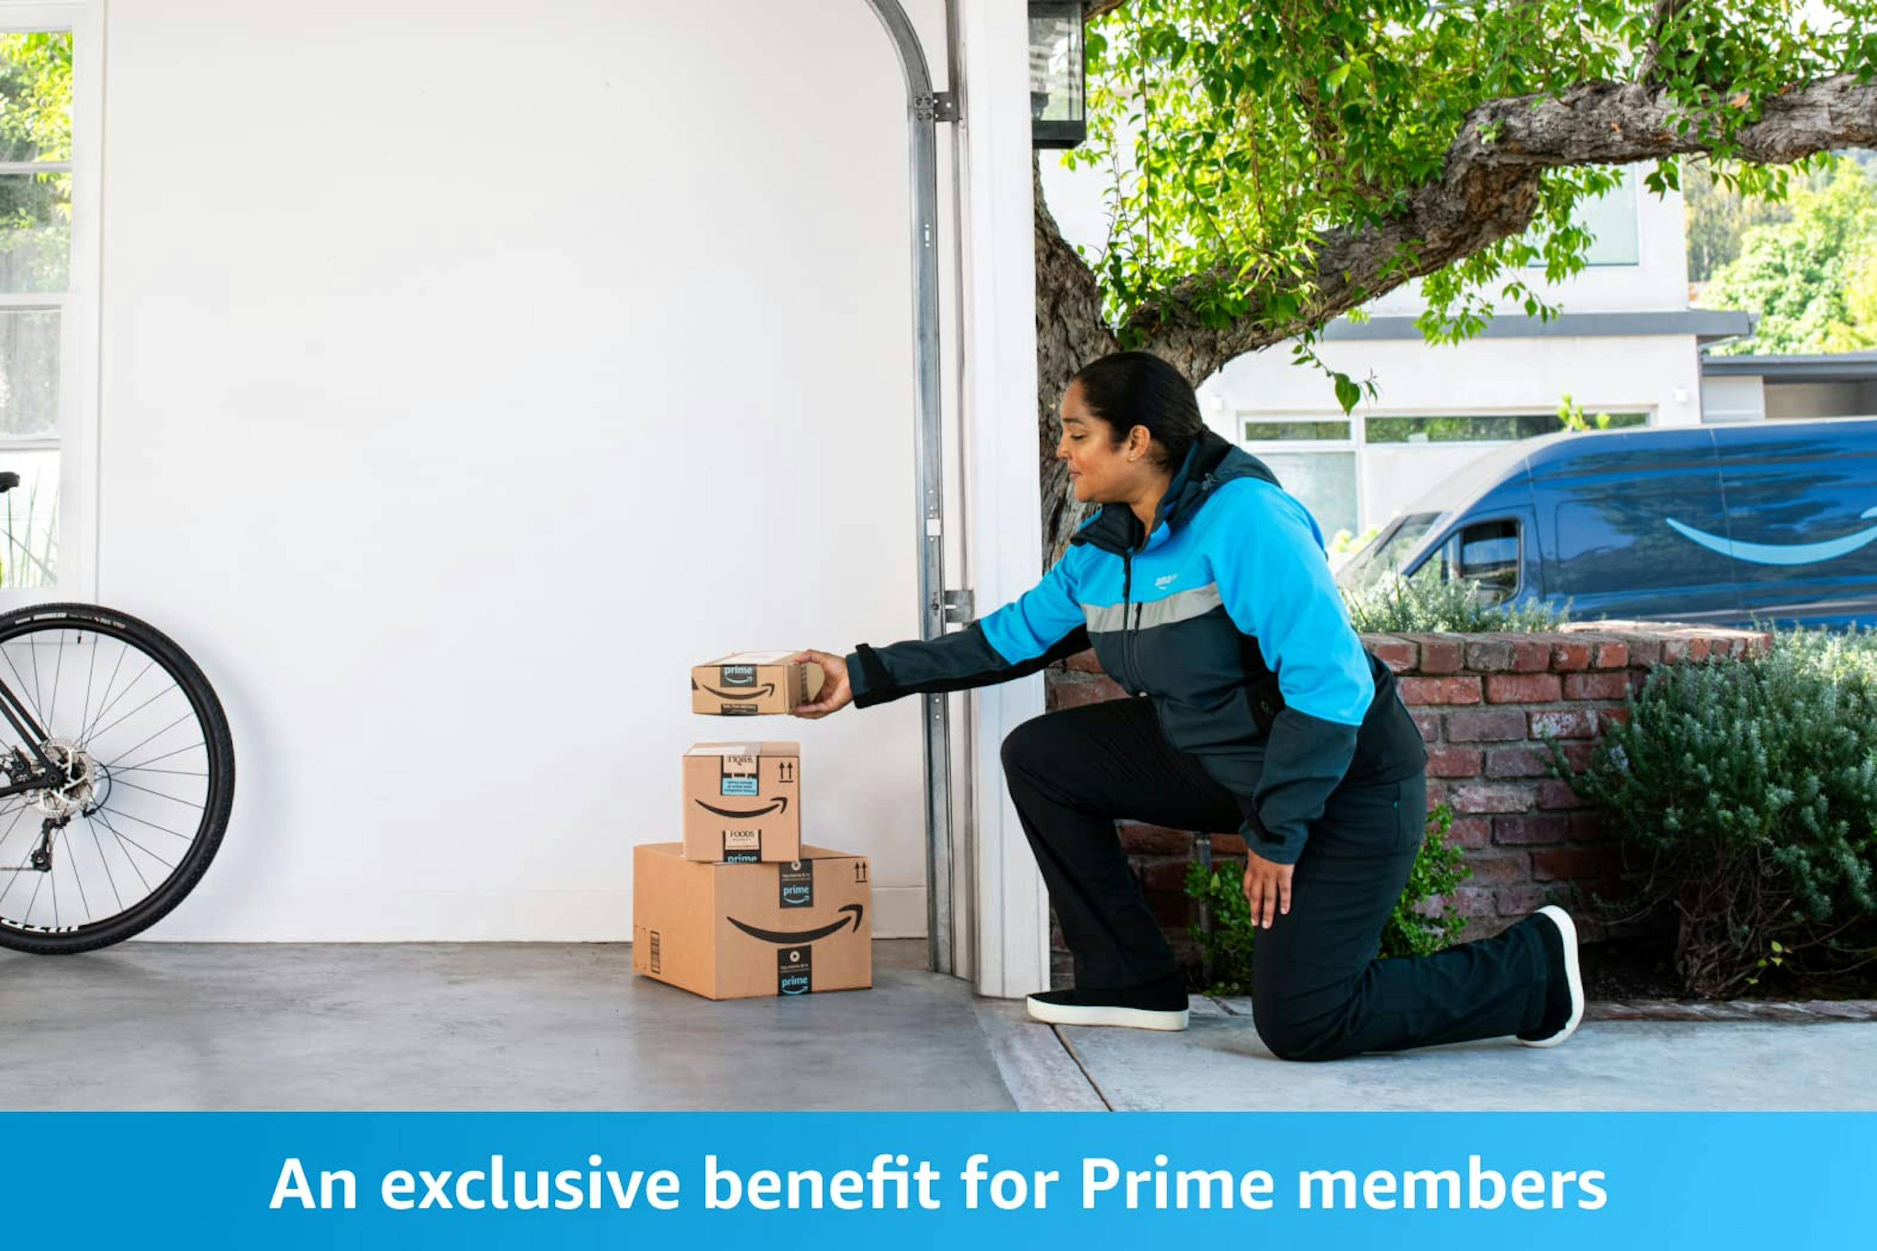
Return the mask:
<path id="1" fill-rule="evenodd" d="M 1742 107 L 1746 101 L 1731 101 Z M 1136 309 L 1126 330 L 1198 384 L 1233 356 L 1320 326 L 1400 283 L 1522 233 L 1539 204 L 1539 174 L 1571 165 L 1629 165 L 1710 152 L 1701 126 L 1672 128 L 1674 101 L 1639 83 L 1586 83 L 1562 96 L 1494 99 L 1468 113 L 1440 178 L 1372 227 L 1329 231 L 1316 251 L 1316 291 L 1301 315 L 1271 323 L 1252 308 L 1226 328 L 1192 311 L 1205 285 L 1229 270 L 1175 283 L 1164 308 Z M 1877 146 L 1877 83 L 1838 75 L 1766 99 L 1734 135 L 1732 156 L 1789 163 L 1832 148 Z M 1051 223 L 1053 225 L 1053 223 Z M 1038 227 L 1042 231 L 1042 227 Z M 1402 263 L 1402 257 L 1408 263 Z"/>

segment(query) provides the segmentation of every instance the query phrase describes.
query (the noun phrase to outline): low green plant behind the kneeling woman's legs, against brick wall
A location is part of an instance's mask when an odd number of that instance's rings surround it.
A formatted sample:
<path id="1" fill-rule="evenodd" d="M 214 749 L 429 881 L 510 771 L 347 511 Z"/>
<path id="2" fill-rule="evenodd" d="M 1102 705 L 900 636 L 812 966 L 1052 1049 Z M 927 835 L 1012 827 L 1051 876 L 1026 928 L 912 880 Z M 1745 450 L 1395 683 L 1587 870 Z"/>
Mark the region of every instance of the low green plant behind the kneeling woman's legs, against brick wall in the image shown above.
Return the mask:
<path id="1" fill-rule="evenodd" d="M 1460 938 L 1466 917 L 1449 902 L 1453 889 L 1473 876 L 1464 852 L 1447 842 L 1453 808 L 1440 805 L 1428 814 L 1428 833 L 1408 874 L 1408 887 L 1381 927 L 1383 960 L 1432 955 Z M 1207 994 L 1252 992 L 1252 906 L 1244 900 L 1244 861 L 1222 861 L 1207 868 L 1186 867 L 1188 898 L 1213 912 L 1211 932 L 1188 927 L 1188 934 L 1213 966 Z"/>

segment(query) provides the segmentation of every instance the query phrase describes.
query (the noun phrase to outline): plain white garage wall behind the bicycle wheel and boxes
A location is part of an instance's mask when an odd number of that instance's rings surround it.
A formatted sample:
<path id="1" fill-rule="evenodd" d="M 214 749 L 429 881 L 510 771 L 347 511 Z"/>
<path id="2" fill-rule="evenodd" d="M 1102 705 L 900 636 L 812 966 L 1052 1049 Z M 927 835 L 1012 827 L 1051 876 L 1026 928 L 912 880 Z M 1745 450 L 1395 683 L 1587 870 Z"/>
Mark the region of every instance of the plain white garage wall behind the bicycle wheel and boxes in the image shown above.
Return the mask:
<path id="1" fill-rule="evenodd" d="M 803 741 L 809 840 L 923 932 L 914 701 L 685 685 L 918 630 L 867 6 L 113 0 L 107 51 L 98 596 L 203 662 L 240 761 L 150 936 L 627 938 L 681 750 L 743 735 Z"/>

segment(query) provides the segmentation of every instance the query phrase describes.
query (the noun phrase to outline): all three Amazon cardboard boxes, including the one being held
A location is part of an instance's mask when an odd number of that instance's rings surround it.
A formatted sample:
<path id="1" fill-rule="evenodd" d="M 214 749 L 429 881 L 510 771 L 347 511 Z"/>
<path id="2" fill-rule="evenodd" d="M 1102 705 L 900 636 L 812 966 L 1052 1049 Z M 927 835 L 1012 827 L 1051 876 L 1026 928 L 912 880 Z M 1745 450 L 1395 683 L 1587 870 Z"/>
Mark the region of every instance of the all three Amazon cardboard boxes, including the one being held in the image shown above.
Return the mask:
<path id="1" fill-rule="evenodd" d="M 691 670 L 691 709 L 788 713 L 820 670 L 743 653 Z M 633 968 L 711 1000 L 873 985 L 867 857 L 801 842 L 801 746 L 698 743 L 683 842 L 633 850 Z"/>

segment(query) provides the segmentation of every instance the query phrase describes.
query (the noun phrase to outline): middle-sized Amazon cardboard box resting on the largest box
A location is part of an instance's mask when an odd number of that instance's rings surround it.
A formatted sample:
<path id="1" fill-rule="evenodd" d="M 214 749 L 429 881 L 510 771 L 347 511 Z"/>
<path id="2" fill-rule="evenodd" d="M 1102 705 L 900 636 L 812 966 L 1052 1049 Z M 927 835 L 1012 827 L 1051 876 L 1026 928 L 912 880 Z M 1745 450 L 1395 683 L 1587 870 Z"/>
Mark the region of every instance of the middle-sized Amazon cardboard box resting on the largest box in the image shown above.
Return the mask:
<path id="1" fill-rule="evenodd" d="M 801 745 L 698 743 L 685 752 L 685 859 L 801 859 Z"/>

